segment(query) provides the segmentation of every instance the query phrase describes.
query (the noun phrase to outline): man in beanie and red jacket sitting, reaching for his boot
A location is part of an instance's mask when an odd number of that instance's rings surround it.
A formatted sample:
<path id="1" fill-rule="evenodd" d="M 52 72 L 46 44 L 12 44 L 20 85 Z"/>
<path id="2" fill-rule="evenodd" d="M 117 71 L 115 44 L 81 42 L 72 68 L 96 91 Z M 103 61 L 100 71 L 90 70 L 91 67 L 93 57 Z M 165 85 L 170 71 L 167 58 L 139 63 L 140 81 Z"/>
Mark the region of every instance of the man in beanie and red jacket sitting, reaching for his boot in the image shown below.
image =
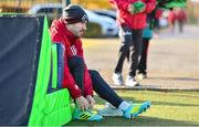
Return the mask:
<path id="1" fill-rule="evenodd" d="M 150 106 L 150 102 L 135 104 L 124 100 L 98 72 L 87 70 L 80 39 L 86 30 L 87 22 L 85 11 L 80 6 L 70 4 L 64 8 L 62 17 L 54 20 L 50 28 L 52 41 L 61 42 L 65 46 L 62 86 L 69 88 L 75 100 L 73 119 L 101 120 L 103 118 L 91 112 L 95 105 L 93 89 L 100 97 L 121 109 L 125 118 L 136 117 Z"/>

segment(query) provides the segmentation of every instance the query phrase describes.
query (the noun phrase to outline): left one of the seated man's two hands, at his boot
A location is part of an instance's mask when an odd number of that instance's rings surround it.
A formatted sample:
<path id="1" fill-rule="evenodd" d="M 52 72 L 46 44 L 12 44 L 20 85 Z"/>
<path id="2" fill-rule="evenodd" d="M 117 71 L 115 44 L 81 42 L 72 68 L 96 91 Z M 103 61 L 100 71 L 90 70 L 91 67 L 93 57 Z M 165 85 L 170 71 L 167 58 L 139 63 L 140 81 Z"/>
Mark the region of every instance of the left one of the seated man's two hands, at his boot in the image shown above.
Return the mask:
<path id="1" fill-rule="evenodd" d="M 75 102 L 76 102 L 76 105 L 78 106 L 78 108 L 80 108 L 81 110 L 86 110 L 86 109 L 88 109 L 88 107 L 90 107 L 90 103 L 88 103 L 87 99 L 86 99 L 85 97 L 83 97 L 83 96 L 77 97 L 77 98 L 75 99 Z"/>

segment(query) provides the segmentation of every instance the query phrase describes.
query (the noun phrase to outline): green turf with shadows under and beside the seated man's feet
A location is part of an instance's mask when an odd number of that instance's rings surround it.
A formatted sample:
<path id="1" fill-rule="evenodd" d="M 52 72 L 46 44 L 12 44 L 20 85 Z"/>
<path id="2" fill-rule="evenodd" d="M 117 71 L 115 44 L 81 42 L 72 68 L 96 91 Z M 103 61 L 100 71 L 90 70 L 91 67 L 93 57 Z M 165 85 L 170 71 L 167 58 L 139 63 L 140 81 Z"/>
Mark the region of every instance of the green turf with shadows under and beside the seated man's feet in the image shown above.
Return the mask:
<path id="1" fill-rule="evenodd" d="M 149 110 L 135 119 L 105 117 L 102 121 L 73 120 L 66 126 L 199 126 L 199 92 L 117 91 L 127 100 L 150 100 Z M 104 100 L 95 96 L 102 108 Z"/>

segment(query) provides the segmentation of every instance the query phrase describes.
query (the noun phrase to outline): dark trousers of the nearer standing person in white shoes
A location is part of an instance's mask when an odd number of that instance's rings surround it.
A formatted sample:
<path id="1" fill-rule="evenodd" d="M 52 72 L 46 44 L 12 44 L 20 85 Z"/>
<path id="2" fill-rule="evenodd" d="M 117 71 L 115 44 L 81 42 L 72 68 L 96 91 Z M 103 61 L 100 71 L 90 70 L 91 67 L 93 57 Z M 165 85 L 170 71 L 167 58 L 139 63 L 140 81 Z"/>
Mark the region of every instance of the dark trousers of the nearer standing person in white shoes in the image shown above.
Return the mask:
<path id="1" fill-rule="evenodd" d="M 132 30 L 125 25 L 119 29 L 119 36 L 122 39 L 122 45 L 119 49 L 119 56 L 115 67 L 115 73 L 122 73 L 124 61 L 127 56 L 129 56 L 128 75 L 135 76 L 138 66 L 138 57 L 142 52 L 143 29 Z"/>

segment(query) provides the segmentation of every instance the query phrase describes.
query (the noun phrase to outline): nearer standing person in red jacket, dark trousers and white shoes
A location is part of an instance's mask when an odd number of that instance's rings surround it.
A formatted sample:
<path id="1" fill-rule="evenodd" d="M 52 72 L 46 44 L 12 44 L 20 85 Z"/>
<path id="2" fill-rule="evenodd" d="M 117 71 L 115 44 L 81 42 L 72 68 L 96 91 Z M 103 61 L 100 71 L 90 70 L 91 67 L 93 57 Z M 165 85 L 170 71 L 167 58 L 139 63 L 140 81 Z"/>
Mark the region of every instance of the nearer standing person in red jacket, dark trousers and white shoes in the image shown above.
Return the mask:
<path id="1" fill-rule="evenodd" d="M 146 14 L 156 7 L 156 0 L 108 0 L 117 10 L 119 38 L 122 40 L 117 63 L 113 74 L 115 85 L 124 85 L 123 64 L 129 52 L 129 67 L 125 85 L 139 85 L 136 80 L 138 57 L 142 52 L 143 30 L 146 25 Z"/>

